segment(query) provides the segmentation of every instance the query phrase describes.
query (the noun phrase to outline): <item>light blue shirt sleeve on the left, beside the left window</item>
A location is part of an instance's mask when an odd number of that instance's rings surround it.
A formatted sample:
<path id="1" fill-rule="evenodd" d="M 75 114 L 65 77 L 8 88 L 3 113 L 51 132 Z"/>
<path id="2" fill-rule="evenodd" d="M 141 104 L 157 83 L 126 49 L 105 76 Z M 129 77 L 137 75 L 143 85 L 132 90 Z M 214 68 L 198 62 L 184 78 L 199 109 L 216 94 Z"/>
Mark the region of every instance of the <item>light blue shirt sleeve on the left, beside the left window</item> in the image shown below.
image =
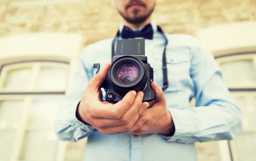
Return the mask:
<path id="1" fill-rule="evenodd" d="M 85 49 L 81 55 L 84 52 Z M 90 71 L 84 66 L 84 60 L 80 56 L 70 83 L 70 92 L 61 103 L 61 109 L 55 121 L 55 133 L 60 140 L 76 142 L 89 136 L 95 129 L 76 117 L 78 103 L 91 77 Z"/>

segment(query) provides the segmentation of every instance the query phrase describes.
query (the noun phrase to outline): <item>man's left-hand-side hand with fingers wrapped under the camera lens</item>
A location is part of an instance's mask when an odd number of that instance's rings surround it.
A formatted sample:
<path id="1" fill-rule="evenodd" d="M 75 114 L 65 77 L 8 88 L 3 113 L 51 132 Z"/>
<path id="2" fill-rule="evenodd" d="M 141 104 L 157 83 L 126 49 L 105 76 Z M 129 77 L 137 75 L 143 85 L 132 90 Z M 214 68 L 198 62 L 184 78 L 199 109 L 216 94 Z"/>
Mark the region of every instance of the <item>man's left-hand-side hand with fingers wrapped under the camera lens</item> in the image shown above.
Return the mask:
<path id="1" fill-rule="evenodd" d="M 78 112 L 87 124 L 98 129 L 102 134 L 115 134 L 136 130 L 146 121 L 146 116 L 141 116 L 149 103 L 143 102 L 143 92 L 128 92 L 122 101 L 108 103 L 101 101 L 102 92 L 100 86 L 108 76 L 111 63 L 92 78 L 85 89 Z"/>

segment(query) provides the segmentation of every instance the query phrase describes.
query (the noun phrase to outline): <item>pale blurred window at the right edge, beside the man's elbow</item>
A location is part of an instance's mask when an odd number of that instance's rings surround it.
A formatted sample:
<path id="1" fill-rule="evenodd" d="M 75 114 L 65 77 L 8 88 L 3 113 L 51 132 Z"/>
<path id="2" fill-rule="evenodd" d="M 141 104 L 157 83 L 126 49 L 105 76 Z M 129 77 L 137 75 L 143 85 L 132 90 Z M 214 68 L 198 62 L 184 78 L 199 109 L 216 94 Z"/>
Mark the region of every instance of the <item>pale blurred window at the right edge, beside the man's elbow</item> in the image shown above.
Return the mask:
<path id="1" fill-rule="evenodd" d="M 233 161 L 256 158 L 256 53 L 216 58 L 223 78 L 243 114 L 243 133 L 230 141 Z"/>

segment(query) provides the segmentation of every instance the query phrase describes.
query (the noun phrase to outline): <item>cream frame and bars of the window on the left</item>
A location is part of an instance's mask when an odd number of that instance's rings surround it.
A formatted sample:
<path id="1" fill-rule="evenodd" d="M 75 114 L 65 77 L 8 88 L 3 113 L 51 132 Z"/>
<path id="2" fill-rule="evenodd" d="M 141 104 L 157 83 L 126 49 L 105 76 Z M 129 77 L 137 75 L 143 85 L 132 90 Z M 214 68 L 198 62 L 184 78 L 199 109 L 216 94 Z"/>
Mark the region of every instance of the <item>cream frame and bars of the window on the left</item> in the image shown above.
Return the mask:
<path id="1" fill-rule="evenodd" d="M 41 63 L 41 64 L 38 64 Z M 22 144 L 24 141 L 24 135 L 26 133 L 27 129 L 27 119 L 29 117 L 29 107 L 32 104 L 33 99 L 36 98 L 63 98 L 65 96 L 67 86 L 69 86 L 68 77 L 70 76 L 70 72 L 72 69 L 72 61 L 59 61 L 59 60 L 44 60 L 44 59 L 34 59 L 34 60 L 28 60 L 28 61 L 13 61 L 9 63 L 0 63 L 0 100 L 6 101 L 6 100 L 21 100 L 23 101 L 22 106 L 22 116 L 20 118 L 21 122 L 20 125 L 16 131 L 15 141 L 13 144 L 12 149 L 12 155 L 10 160 L 13 161 L 20 161 L 20 152 L 22 148 Z M 34 79 L 32 81 L 35 82 L 37 76 L 38 76 L 38 69 L 40 66 L 44 64 L 50 64 L 50 66 L 66 66 L 67 68 L 67 83 L 66 88 L 59 91 L 39 91 L 37 89 L 34 90 L 8 90 L 1 88 L 1 85 L 3 84 L 6 72 L 8 69 L 18 69 L 19 67 L 23 67 L 26 65 L 32 64 L 32 73 L 31 78 Z M 36 69 L 36 70 L 35 70 Z M 4 73 L 4 75 L 3 75 Z M 32 89 L 32 86 L 30 86 Z M 7 128 L 8 129 L 8 128 Z M 64 141 L 56 140 L 56 151 L 55 151 L 55 160 L 56 161 L 63 161 L 64 160 L 64 152 L 65 152 L 66 143 Z"/>

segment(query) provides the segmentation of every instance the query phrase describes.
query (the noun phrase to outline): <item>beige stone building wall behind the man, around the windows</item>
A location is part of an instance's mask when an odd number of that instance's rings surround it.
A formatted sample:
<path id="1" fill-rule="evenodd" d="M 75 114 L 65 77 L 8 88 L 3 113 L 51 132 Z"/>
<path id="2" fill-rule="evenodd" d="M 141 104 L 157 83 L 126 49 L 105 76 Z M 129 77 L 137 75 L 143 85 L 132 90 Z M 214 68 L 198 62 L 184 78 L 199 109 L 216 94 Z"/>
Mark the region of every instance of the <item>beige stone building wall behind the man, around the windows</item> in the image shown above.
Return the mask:
<path id="1" fill-rule="evenodd" d="M 154 20 L 165 32 L 195 35 L 218 24 L 256 21 L 256 0 L 157 0 Z M 0 0 L 0 36 L 75 32 L 86 46 L 113 37 L 120 22 L 113 0 Z M 216 142 L 196 145 L 198 161 L 220 161 Z"/>

